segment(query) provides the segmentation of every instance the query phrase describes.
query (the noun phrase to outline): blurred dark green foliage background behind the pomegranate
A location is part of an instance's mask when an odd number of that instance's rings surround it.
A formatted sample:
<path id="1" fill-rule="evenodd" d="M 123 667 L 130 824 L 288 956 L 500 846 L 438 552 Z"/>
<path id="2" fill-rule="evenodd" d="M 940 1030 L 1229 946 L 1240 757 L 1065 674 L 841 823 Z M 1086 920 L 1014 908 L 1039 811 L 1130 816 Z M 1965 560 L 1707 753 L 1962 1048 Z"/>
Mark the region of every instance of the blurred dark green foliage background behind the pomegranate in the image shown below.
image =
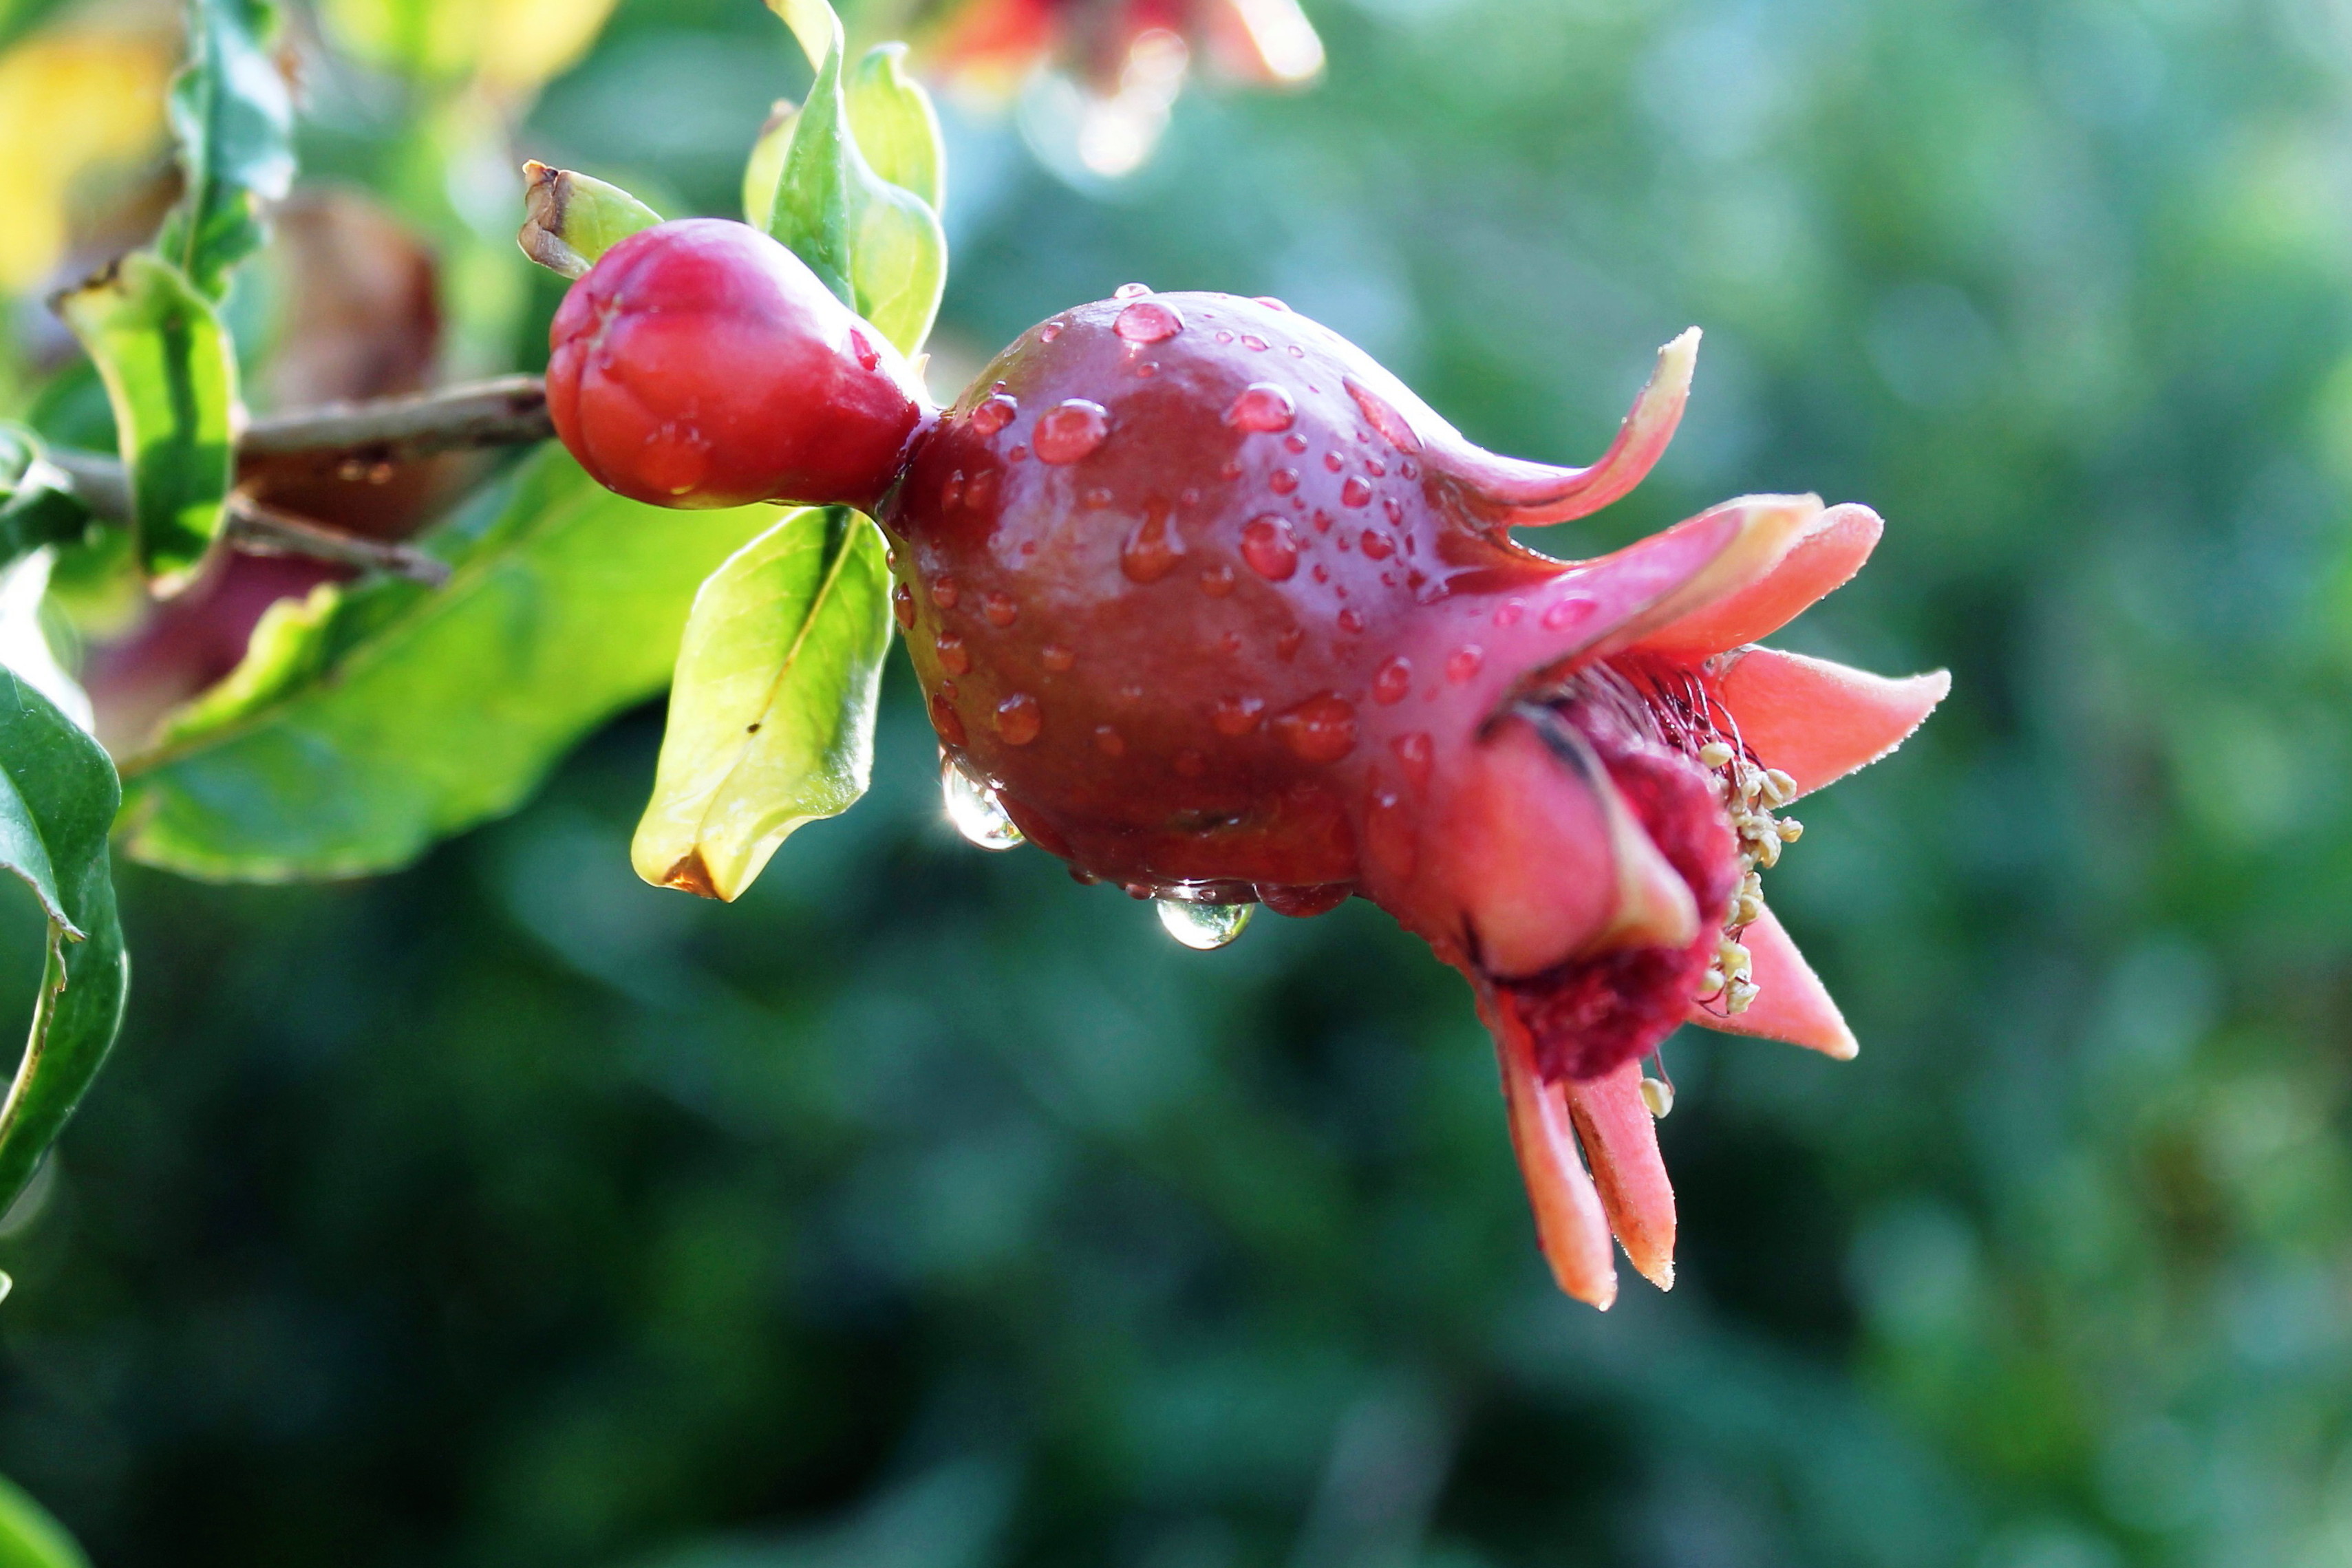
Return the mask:
<path id="1" fill-rule="evenodd" d="M 1778 637 L 1957 682 L 1771 877 L 1860 1060 L 1677 1037 L 1679 1284 L 1595 1314 L 1376 910 L 1192 954 L 967 849 L 903 670 L 873 797 L 703 905 L 628 872 L 640 712 L 397 877 L 125 875 L 0 1237 L 0 1472 L 99 1563 L 2352 1563 L 2352 14 L 1312 12 L 1322 87 L 1117 186 L 950 113 L 941 357 L 1279 294 L 1581 461 L 1703 324 L 1552 545 L 1886 515 Z M 781 61 L 626 0 L 522 146 L 729 212 Z"/>

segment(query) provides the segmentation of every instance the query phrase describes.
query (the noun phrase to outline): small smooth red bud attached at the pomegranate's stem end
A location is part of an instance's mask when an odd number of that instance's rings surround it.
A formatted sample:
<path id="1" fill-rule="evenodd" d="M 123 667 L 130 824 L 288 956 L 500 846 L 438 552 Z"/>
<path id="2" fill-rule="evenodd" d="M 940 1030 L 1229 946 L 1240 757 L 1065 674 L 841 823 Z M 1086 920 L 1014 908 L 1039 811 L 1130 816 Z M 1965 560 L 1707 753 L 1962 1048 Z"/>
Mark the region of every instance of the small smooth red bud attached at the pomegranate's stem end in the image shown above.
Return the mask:
<path id="1" fill-rule="evenodd" d="M 548 329 L 548 411 L 581 468 L 654 505 L 873 508 L 922 383 L 783 244 L 684 219 L 621 240 Z"/>

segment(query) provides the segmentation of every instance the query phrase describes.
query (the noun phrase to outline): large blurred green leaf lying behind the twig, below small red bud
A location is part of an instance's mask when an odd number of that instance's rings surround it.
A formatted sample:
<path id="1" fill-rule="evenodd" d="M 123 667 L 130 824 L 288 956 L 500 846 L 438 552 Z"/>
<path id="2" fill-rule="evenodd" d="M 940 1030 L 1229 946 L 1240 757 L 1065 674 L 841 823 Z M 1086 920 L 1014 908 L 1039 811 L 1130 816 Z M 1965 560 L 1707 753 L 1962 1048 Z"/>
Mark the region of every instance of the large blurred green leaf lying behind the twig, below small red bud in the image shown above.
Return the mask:
<path id="1" fill-rule="evenodd" d="M 214 879 L 353 877 L 513 811 L 661 691 L 694 588 L 774 520 L 637 505 L 543 447 L 419 541 L 447 585 L 278 604 L 230 679 L 125 764 L 125 853 Z"/>

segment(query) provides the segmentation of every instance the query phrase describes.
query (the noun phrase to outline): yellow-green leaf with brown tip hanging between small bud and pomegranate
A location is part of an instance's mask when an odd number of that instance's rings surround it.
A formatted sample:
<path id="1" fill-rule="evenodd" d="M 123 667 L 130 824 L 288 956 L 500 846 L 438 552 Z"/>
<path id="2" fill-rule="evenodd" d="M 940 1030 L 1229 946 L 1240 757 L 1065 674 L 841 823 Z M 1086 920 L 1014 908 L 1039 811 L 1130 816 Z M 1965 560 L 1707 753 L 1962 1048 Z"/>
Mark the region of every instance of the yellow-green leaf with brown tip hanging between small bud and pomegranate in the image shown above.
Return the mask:
<path id="1" fill-rule="evenodd" d="M 656 886 L 734 898 L 800 827 L 866 795 L 889 654 L 882 531 L 793 512 L 694 595 L 654 799 L 630 863 Z"/>

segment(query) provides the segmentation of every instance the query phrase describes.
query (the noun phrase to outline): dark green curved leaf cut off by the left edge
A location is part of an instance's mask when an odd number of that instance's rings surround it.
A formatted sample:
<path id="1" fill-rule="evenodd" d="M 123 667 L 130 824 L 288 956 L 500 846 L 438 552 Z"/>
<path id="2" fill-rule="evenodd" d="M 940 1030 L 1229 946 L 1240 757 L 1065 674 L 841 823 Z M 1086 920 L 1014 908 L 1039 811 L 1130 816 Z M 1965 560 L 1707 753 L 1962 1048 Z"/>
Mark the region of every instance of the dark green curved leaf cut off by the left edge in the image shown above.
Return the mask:
<path id="1" fill-rule="evenodd" d="M 106 858 L 118 799 L 99 743 L 0 670 L 0 870 L 33 889 L 49 922 L 33 1032 L 0 1103 L 0 1211 L 33 1180 L 122 1025 L 129 964 Z"/>

